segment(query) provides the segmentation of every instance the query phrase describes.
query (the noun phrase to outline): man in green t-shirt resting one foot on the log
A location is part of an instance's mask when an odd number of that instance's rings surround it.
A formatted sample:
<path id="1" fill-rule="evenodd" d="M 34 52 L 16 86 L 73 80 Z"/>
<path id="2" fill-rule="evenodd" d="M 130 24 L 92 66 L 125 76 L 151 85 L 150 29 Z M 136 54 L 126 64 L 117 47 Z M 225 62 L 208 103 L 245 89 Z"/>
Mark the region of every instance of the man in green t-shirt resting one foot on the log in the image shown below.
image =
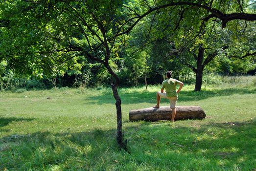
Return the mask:
<path id="1" fill-rule="evenodd" d="M 171 71 L 167 71 L 165 76 L 166 76 L 166 80 L 164 80 L 162 83 L 161 91 L 157 92 L 157 105 L 153 107 L 155 108 L 160 107 L 161 97 L 165 99 L 169 99 L 170 107 L 172 108 L 171 122 L 174 122 L 174 118 L 176 115 L 176 103 L 178 100 L 178 93 L 181 91 L 184 84 L 178 80 L 171 78 L 172 77 Z M 177 91 L 176 91 L 176 85 L 180 85 Z M 164 89 L 165 91 L 163 91 Z"/>

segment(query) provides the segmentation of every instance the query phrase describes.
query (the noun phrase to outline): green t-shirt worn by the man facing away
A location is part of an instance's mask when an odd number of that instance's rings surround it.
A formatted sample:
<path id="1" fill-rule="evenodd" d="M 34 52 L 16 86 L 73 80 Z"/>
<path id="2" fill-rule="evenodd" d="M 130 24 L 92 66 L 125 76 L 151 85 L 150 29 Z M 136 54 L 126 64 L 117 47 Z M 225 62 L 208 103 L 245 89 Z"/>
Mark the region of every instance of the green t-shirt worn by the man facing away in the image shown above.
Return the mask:
<path id="1" fill-rule="evenodd" d="M 167 80 L 163 81 L 162 88 L 165 88 L 167 97 L 178 97 L 176 85 L 178 85 L 179 83 L 181 82 L 172 78 L 168 78 Z"/>

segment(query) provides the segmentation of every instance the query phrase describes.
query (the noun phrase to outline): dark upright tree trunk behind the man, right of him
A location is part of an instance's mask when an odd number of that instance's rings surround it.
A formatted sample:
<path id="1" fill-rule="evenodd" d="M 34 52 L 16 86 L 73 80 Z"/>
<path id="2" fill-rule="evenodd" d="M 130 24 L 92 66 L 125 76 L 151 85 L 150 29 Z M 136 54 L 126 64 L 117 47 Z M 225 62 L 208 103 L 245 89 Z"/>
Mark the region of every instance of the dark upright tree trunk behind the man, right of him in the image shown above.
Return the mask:
<path id="1" fill-rule="evenodd" d="M 203 82 L 203 59 L 204 59 L 204 48 L 203 44 L 199 45 L 198 56 L 197 56 L 197 69 L 196 69 L 196 85 L 195 91 L 200 91 Z"/>

